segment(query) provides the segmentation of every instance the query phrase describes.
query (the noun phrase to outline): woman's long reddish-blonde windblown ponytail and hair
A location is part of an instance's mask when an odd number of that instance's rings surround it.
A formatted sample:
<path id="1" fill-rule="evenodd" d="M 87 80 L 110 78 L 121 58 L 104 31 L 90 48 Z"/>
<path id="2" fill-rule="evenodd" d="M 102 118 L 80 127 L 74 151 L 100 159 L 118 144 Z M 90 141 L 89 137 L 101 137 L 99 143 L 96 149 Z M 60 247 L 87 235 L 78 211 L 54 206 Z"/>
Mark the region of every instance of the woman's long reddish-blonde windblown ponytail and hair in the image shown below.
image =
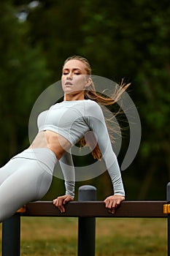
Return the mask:
<path id="1" fill-rule="evenodd" d="M 90 64 L 88 62 L 87 59 L 85 59 L 82 56 L 71 56 L 68 59 L 66 59 L 66 61 L 64 61 L 64 64 L 66 64 L 67 61 L 70 61 L 72 59 L 78 60 L 78 61 L 82 61 L 82 63 L 85 64 L 85 70 L 87 71 L 87 75 L 91 75 L 91 67 Z M 63 64 L 63 65 L 64 65 Z M 130 83 L 124 83 L 123 80 L 120 84 L 120 86 L 117 84 L 117 86 L 115 86 L 115 91 L 113 92 L 112 95 L 110 95 L 109 97 L 106 97 L 104 94 L 102 93 L 98 93 L 95 89 L 93 80 L 90 83 L 90 86 L 88 86 L 87 89 L 85 89 L 85 99 L 91 99 L 94 100 L 95 102 L 97 102 L 99 105 L 102 106 L 110 106 L 110 105 L 114 105 L 121 97 L 121 95 L 123 94 L 123 92 L 128 89 L 128 86 L 130 86 Z M 117 116 L 120 113 L 120 110 L 117 110 L 116 113 L 114 113 L 114 116 Z M 112 143 L 114 142 L 114 138 L 111 135 L 111 132 L 115 132 L 114 128 L 113 128 L 113 123 L 115 124 L 114 121 L 110 120 L 108 121 L 105 118 L 106 124 L 107 124 L 107 129 L 109 132 L 109 136 L 110 136 L 110 140 L 112 141 Z M 79 145 L 80 147 L 83 146 L 89 146 L 89 148 L 92 150 L 92 155 L 94 159 L 101 159 L 101 151 L 100 148 L 98 146 L 98 143 L 96 142 L 96 138 L 93 135 L 93 132 L 90 132 L 87 136 L 83 137 L 80 139 L 79 141 Z"/>

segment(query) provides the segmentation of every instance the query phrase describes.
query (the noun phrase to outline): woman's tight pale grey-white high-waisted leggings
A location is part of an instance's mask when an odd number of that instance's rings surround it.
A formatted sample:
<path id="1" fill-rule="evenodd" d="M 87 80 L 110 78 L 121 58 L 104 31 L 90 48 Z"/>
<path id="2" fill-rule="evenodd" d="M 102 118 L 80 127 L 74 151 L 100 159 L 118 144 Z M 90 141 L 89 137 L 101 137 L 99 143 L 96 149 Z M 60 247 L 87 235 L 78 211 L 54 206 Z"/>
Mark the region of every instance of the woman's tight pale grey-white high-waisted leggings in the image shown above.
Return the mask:
<path id="1" fill-rule="evenodd" d="M 0 222 L 47 193 L 56 162 L 50 149 L 29 148 L 0 168 Z"/>

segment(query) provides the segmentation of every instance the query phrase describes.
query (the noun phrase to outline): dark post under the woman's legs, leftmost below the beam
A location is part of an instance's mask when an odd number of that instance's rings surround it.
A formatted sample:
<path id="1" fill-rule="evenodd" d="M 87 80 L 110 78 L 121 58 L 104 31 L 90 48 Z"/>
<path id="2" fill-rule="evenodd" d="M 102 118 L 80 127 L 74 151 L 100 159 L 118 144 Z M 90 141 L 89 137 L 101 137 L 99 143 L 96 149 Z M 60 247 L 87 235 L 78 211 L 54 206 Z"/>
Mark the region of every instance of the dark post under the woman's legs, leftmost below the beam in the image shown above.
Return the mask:
<path id="1" fill-rule="evenodd" d="M 20 214 L 2 222 L 2 256 L 20 256 Z"/>

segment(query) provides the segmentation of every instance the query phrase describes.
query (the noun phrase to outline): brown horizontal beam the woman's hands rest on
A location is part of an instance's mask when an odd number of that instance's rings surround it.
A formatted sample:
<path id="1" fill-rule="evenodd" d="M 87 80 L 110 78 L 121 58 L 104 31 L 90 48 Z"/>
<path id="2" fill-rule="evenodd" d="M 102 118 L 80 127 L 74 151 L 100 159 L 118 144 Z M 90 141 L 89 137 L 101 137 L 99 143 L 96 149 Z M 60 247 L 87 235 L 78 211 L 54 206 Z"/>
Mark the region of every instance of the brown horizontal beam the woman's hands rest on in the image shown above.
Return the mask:
<path id="1" fill-rule="evenodd" d="M 26 204 L 26 213 L 21 216 L 39 217 L 167 217 L 163 214 L 166 201 L 123 201 L 115 214 L 109 213 L 102 201 L 73 201 L 66 204 L 61 214 L 52 201 L 37 201 Z"/>

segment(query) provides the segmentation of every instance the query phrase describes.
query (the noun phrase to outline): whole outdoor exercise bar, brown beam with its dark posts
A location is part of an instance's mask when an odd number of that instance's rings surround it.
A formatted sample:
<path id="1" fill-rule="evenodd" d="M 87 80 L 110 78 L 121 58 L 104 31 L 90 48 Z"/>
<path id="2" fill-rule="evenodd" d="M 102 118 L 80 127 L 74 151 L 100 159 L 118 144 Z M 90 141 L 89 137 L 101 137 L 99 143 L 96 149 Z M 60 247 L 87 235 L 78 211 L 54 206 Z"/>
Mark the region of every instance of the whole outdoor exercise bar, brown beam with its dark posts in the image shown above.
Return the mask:
<path id="1" fill-rule="evenodd" d="M 96 188 L 92 186 L 80 187 L 79 201 L 67 203 L 63 214 L 52 201 L 28 203 L 26 211 L 24 209 L 2 223 L 2 256 L 20 256 L 20 216 L 79 217 L 78 256 L 95 255 L 96 217 L 166 217 L 170 256 L 170 214 L 163 214 L 163 206 L 167 203 L 170 203 L 170 183 L 167 185 L 166 201 L 124 201 L 115 214 L 109 213 L 102 201 L 96 201 Z"/>

